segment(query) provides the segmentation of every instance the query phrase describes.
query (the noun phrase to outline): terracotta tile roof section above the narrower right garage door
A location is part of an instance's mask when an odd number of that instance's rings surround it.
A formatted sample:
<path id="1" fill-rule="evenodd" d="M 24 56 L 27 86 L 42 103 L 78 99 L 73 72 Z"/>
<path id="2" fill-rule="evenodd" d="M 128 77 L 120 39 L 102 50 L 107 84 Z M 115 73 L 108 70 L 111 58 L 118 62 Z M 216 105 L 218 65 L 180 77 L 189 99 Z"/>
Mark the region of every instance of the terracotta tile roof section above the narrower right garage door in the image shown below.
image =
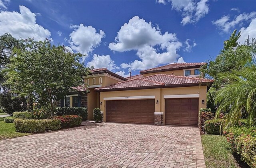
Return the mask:
<path id="1" fill-rule="evenodd" d="M 161 81 L 161 82 L 164 82 L 165 85 L 198 84 L 198 83 L 207 83 L 207 82 L 214 81 L 206 78 L 177 76 L 177 75 L 168 75 L 168 74 L 154 74 L 154 75 L 146 76 L 144 78 L 155 80 L 155 81 Z"/>

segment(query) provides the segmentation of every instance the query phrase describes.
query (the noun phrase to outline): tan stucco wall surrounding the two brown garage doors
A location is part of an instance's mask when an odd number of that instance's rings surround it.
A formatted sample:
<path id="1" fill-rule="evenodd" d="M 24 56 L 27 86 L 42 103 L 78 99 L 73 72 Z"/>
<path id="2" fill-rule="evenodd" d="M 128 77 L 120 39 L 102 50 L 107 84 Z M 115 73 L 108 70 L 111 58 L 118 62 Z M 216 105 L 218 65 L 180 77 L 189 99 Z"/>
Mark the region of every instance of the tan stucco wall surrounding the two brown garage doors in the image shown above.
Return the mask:
<path id="1" fill-rule="evenodd" d="M 183 94 L 200 94 L 199 96 L 199 109 L 206 108 L 206 86 L 193 86 L 182 88 L 158 88 L 158 89 L 144 89 L 144 90 L 126 90 L 114 92 L 100 92 L 100 110 L 104 112 L 104 121 L 106 118 L 106 107 L 104 98 L 110 97 L 129 97 L 129 96 L 155 96 L 155 112 L 164 112 L 164 95 L 183 95 Z M 123 99 L 129 100 L 129 99 Z M 158 100 L 158 104 L 156 101 Z M 204 100 L 205 104 L 202 104 Z M 138 111 L 139 112 L 139 111 Z M 198 111 L 199 113 L 199 111 Z"/>

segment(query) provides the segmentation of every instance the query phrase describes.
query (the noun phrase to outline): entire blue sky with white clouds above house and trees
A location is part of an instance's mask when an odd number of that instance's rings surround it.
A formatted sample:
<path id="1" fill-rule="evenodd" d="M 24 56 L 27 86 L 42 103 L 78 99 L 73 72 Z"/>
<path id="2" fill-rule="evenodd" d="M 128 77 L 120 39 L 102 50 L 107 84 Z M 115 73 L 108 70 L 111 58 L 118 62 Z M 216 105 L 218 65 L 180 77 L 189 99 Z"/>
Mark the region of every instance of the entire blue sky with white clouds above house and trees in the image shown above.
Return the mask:
<path id="1" fill-rule="evenodd" d="M 0 35 L 52 39 L 126 76 L 216 57 L 234 29 L 256 38 L 256 1 L 0 0 Z"/>

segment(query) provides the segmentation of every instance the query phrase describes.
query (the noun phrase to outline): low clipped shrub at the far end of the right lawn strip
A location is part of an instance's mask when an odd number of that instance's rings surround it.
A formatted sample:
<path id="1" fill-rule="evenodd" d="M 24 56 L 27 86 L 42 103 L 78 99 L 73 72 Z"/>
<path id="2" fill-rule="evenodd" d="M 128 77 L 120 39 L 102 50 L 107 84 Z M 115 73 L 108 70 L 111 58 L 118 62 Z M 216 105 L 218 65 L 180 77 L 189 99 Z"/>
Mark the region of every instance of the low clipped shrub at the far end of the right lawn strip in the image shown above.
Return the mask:
<path id="1" fill-rule="evenodd" d="M 222 123 L 222 119 L 211 119 L 205 121 L 205 130 L 207 134 L 221 135 L 222 129 L 220 130 L 220 125 Z"/>

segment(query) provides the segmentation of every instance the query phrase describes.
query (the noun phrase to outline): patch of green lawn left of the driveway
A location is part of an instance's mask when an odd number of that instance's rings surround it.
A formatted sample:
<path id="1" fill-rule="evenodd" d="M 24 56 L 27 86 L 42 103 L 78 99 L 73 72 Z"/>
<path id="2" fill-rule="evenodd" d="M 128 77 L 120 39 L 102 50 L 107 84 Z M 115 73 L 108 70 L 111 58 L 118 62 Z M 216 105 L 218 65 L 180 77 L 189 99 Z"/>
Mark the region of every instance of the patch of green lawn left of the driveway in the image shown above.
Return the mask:
<path id="1" fill-rule="evenodd" d="M 31 135 L 30 133 L 17 133 L 14 128 L 14 123 L 5 123 L 4 118 L 0 118 L 0 140 L 10 139 Z"/>

